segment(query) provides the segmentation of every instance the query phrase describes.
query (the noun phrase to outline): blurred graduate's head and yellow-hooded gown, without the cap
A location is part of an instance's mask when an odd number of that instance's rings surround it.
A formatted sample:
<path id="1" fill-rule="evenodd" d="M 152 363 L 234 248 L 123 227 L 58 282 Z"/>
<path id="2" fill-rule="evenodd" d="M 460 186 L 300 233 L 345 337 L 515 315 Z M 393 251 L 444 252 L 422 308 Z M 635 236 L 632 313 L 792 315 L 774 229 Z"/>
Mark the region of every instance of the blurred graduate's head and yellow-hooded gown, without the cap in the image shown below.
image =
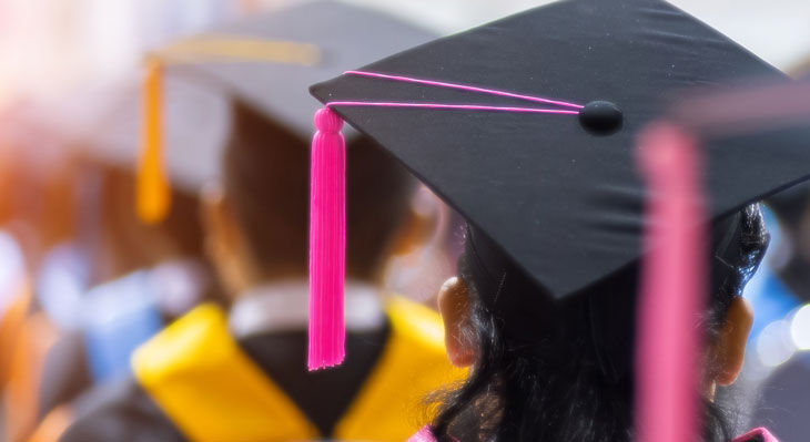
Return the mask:
<path id="1" fill-rule="evenodd" d="M 351 357 L 307 371 L 308 153 L 247 106 L 234 113 L 223 183 L 202 195 L 205 246 L 234 297 L 230 315 L 204 305 L 141 347 L 135 382 L 92 407 L 63 441 L 182 441 L 202 432 L 394 441 L 418 426 L 424 395 L 455 379 L 438 315 L 383 292 L 388 257 L 418 246 L 427 220 L 411 210 L 413 178 L 367 138 L 347 154 Z"/>

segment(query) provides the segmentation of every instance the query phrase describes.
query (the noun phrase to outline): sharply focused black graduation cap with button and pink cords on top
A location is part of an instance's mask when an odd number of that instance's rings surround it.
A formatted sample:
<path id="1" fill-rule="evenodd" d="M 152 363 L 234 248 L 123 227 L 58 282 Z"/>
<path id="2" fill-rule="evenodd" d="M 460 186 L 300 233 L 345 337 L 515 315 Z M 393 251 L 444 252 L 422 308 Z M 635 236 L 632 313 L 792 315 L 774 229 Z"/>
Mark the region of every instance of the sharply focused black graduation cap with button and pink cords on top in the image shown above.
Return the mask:
<path id="1" fill-rule="evenodd" d="M 783 79 L 659 0 L 560 1 L 358 71 L 311 92 L 554 298 L 641 256 L 646 191 L 635 147 L 642 127 L 684 100 L 682 90 Z M 810 151 L 767 140 L 726 137 L 707 150 L 711 219 L 807 178 Z"/>

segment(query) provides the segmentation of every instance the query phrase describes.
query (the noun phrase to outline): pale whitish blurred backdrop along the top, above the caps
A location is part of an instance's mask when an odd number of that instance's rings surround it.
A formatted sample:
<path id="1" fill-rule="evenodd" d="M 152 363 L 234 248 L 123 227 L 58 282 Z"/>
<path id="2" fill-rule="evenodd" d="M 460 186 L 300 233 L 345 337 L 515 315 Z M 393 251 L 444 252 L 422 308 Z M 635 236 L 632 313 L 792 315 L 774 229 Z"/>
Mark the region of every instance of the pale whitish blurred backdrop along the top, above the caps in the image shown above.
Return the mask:
<path id="1" fill-rule="evenodd" d="M 52 97 L 130 72 L 148 49 L 217 22 L 297 0 L 2 0 L 0 103 Z M 530 0 L 353 0 L 452 33 L 546 3 Z M 801 0 L 676 0 L 778 68 L 810 49 Z"/>

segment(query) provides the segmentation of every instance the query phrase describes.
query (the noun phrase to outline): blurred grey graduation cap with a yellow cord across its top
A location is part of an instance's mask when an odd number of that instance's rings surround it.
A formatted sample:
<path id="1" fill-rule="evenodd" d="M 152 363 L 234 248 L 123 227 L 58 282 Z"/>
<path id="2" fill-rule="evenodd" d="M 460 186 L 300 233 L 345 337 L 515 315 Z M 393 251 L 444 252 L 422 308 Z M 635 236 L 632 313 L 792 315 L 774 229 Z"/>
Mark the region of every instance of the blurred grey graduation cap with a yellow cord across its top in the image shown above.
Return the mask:
<path id="1" fill-rule="evenodd" d="M 170 75 L 219 85 L 308 140 L 317 107 L 310 84 L 433 38 L 384 13 L 315 1 L 213 28 L 163 54 Z"/>

